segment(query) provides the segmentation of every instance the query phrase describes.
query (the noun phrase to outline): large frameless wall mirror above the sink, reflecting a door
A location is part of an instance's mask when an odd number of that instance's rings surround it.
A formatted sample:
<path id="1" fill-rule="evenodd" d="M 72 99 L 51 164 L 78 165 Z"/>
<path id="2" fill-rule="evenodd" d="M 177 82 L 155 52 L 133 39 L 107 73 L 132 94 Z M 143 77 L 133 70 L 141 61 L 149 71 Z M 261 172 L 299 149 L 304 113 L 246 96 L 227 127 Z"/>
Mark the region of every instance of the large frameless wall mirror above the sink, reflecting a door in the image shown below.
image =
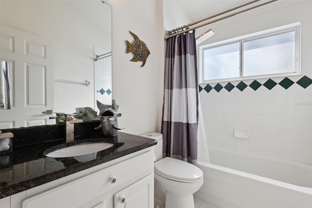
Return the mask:
<path id="1" fill-rule="evenodd" d="M 110 5 L 0 0 L 0 27 L 0 61 L 8 63 L 11 106 L 0 109 L 0 129 L 56 124 L 49 118 L 57 112 L 98 111 L 97 100 L 111 104 Z"/>

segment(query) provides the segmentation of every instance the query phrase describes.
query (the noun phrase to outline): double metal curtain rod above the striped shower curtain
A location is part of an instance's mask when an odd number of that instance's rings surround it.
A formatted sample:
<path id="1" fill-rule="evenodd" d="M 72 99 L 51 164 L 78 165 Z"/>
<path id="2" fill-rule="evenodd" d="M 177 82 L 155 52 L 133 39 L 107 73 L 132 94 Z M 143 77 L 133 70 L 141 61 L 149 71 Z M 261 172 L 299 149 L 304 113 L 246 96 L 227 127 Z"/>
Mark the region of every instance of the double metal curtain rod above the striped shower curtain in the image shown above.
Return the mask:
<path id="1" fill-rule="evenodd" d="M 256 0 L 256 1 L 259 1 L 259 0 Z M 270 0 L 270 1 L 268 1 L 268 2 L 265 2 L 265 3 L 259 4 L 259 5 L 250 7 L 250 8 L 248 8 L 248 9 L 244 9 L 244 10 L 242 10 L 242 11 L 240 11 L 240 12 L 235 12 L 234 14 L 227 15 L 227 16 L 224 16 L 224 17 L 222 17 L 222 18 L 219 18 L 219 19 L 216 19 L 216 20 L 213 20 L 213 21 L 209 21 L 209 22 L 206 22 L 206 23 L 197 25 L 197 26 L 194 26 L 194 27 L 192 27 L 192 28 L 185 29 L 185 30 L 183 30 L 183 31 L 179 31 L 179 32 L 176 32 L 176 33 L 171 34 L 171 35 L 168 35 L 168 34 L 170 33 L 170 31 L 166 31 L 166 35 L 164 36 L 164 40 L 167 40 L 168 38 L 171 38 L 171 37 L 180 35 L 180 34 L 182 34 L 182 33 L 185 33 L 185 32 L 191 31 L 191 30 L 195 30 L 195 29 L 197 29 L 197 28 L 199 28 L 199 27 L 202 27 L 202 26 L 206 26 L 206 25 L 208 25 L 208 24 L 215 23 L 215 22 L 217 22 L 217 21 L 221 21 L 221 20 L 228 19 L 228 18 L 230 18 L 230 17 L 234 17 L 234 16 L 236 16 L 236 15 L 239 15 L 239 14 L 248 12 L 248 11 L 250 11 L 250 10 L 253 10 L 253 9 L 256 9 L 256 8 L 259 8 L 259 7 L 262 7 L 262 6 L 265 6 L 265 5 L 267 5 L 267 4 L 271 4 L 271 3 L 275 2 L 275 1 L 279 1 L 279 0 Z M 251 4 L 251 3 L 254 3 L 254 2 L 255 2 L 255 1 L 252 1 L 252 2 L 250 2 L 250 3 L 248 3 L 248 4 Z M 246 4 L 244 4 L 244 5 L 246 5 Z M 244 5 L 241 5 L 241 6 L 238 6 L 238 7 L 241 8 L 241 7 L 243 7 Z M 234 11 L 234 10 L 235 10 L 236 8 L 238 8 L 238 7 L 235 7 L 235 8 L 230 9 L 230 10 Z M 219 14 L 213 15 L 213 16 L 211 16 L 211 17 L 205 18 L 205 19 L 200 20 L 200 21 L 196 21 L 196 23 L 199 23 L 199 22 L 202 22 L 202 21 L 206 21 L 206 20 L 212 19 L 212 18 L 217 17 L 217 16 L 220 16 L 220 15 L 222 15 L 222 14 L 229 13 L 230 10 L 227 10 L 227 11 L 225 11 L 225 12 L 221 12 L 221 13 L 219 13 Z M 189 24 L 189 25 L 194 25 L 194 24 L 196 24 L 196 23 L 193 22 L 193 23 L 191 23 L 191 24 Z M 179 27 L 179 28 L 182 29 L 182 28 L 185 28 L 185 27 L 187 27 L 187 26 L 183 26 L 183 27 Z M 177 30 L 177 29 L 171 30 L 171 31 L 176 31 L 176 30 Z"/>

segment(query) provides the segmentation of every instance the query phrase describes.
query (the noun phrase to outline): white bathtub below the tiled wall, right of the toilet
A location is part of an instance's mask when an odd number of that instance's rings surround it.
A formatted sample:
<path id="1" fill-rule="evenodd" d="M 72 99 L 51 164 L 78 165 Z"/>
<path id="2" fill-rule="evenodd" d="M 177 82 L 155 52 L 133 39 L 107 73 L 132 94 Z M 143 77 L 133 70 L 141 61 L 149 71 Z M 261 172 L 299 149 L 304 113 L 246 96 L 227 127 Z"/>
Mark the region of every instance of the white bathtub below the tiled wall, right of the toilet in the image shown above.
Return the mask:
<path id="1" fill-rule="evenodd" d="M 312 166 L 209 148 L 195 197 L 221 208 L 312 208 Z"/>

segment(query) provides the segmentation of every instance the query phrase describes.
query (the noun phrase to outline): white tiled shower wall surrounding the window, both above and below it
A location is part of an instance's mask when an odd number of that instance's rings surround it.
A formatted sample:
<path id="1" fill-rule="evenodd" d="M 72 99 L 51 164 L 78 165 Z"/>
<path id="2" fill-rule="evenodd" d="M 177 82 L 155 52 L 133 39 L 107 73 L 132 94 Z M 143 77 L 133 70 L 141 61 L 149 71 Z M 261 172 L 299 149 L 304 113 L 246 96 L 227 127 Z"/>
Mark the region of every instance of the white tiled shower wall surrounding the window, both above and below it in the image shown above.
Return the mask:
<path id="1" fill-rule="evenodd" d="M 199 84 L 209 146 L 312 164 L 311 11 L 312 0 L 278 1 L 211 25 L 215 35 L 204 44 L 301 22 L 301 75 Z M 235 128 L 249 138 L 235 138 Z"/>

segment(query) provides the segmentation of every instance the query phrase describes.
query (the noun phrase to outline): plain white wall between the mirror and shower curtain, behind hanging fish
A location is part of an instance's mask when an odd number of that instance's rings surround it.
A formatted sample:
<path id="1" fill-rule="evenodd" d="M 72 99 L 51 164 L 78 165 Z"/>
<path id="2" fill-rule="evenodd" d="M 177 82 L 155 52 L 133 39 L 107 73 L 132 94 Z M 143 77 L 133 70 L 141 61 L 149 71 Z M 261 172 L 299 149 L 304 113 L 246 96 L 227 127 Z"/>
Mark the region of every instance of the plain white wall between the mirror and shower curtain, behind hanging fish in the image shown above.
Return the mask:
<path id="1" fill-rule="evenodd" d="M 113 99 L 119 105 L 118 126 L 124 132 L 160 131 L 163 86 L 163 23 L 160 0 L 107 0 L 113 7 Z M 142 62 L 130 62 L 126 40 L 129 30 L 146 43 L 151 54 Z M 160 118 L 160 119 L 159 119 Z"/>

